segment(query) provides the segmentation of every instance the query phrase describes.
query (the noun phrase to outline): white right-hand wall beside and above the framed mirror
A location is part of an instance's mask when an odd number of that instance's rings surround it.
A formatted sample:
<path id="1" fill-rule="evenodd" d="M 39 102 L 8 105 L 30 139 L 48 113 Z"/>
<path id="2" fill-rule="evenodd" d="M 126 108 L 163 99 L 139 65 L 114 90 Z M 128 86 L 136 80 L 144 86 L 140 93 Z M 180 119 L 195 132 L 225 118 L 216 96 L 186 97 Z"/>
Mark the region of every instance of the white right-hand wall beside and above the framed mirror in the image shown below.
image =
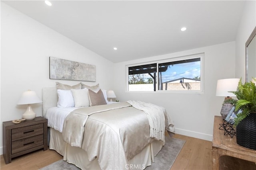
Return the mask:
<path id="1" fill-rule="evenodd" d="M 256 1 L 246 1 L 236 34 L 236 77 L 245 80 L 245 43 L 256 26 Z"/>

